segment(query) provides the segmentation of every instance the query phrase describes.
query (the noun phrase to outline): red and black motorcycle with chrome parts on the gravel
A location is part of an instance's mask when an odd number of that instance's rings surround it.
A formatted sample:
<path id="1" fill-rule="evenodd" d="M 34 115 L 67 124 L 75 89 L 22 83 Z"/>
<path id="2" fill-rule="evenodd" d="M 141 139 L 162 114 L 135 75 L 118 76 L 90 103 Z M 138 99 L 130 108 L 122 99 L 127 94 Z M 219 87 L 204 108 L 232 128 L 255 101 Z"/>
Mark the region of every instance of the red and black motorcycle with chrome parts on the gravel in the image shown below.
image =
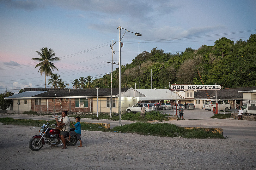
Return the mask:
<path id="1" fill-rule="evenodd" d="M 57 126 L 56 124 L 49 125 L 49 121 L 51 118 L 48 119 L 46 124 L 43 124 L 41 126 L 40 135 L 35 135 L 33 136 L 30 141 L 29 141 L 29 148 L 33 151 L 37 151 L 42 149 L 44 144 L 49 144 L 49 145 L 61 145 L 62 141 L 60 139 L 60 131 L 56 130 L 54 128 L 50 128 L 52 126 Z M 61 121 L 61 120 L 58 120 Z M 58 126 L 57 126 L 58 127 Z M 70 131 L 74 131 L 75 128 L 70 128 Z M 68 138 L 69 134 L 65 136 L 65 138 Z M 77 143 L 77 137 L 72 136 L 70 138 L 70 141 L 66 140 L 66 145 L 67 146 L 74 146 Z"/>

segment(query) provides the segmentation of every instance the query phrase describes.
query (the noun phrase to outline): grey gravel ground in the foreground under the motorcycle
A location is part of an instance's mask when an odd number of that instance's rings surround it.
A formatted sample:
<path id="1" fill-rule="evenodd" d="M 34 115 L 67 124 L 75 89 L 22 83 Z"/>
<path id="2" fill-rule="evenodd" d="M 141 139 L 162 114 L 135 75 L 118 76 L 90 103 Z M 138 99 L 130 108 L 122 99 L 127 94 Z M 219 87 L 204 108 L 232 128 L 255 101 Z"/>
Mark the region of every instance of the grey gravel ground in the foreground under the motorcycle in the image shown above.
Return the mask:
<path id="1" fill-rule="evenodd" d="M 82 131 L 83 147 L 32 151 L 39 129 L 0 123 L 0 169 L 256 169 L 255 144 L 246 141 Z"/>

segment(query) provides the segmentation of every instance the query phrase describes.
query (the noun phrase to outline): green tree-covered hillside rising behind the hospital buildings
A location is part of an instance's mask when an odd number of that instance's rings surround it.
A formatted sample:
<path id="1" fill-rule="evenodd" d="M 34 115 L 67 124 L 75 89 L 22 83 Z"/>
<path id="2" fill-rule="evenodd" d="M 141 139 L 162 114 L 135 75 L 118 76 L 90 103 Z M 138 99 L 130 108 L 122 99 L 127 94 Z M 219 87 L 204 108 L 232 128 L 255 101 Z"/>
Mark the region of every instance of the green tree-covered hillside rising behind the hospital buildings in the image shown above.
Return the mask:
<path id="1" fill-rule="evenodd" d="M 140 68 L 139 68 L 140 65 Z M 153 48 L 143 51 L 130 64 L 122 65 L 122 87 L 169 88 L 170 84 L 222 85 L 223 88 L 256 86 L 256 34 L 247 41 L 236 43 L 226 37 L 215 41 L 213 46 L 202 45 L 198 49 L 186 48 L 182 53 L 165 53 Z M 111 75 L 93 81 L 94 86 L 109 88 Z M 113 88 L 119 87 L 119 69 L 113 71 Z"/>

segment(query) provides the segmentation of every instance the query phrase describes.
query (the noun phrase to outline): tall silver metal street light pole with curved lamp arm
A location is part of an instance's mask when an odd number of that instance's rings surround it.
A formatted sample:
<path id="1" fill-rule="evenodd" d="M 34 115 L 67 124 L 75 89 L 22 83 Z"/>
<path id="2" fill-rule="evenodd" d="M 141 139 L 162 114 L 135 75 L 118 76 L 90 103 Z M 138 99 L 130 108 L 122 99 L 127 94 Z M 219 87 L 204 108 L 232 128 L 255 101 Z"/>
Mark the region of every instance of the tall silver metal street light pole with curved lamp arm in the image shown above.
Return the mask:
<path id="1" fill-rule="evenodd" d="M 121 113 L 122 113 L 122 99 L 121 99 L 121 40 L 124 37 L 125 33 L 124 33 L 123 37 L 121 38 L 121 26 L 119 26 L 117 29 L 118 29 L 118 57 L 119 57 L 119 126 L 122 126 L 122 120 L 121 120 Z M 126 30 L 126 29 L 124 29 L 124 30 Z M 126 30 L 126 31 L 128 31 L 128 30 Z M 131 32 L 131 31 L 128 31 L 128 32 Z M 137 33 L 137 32 L 131 32 L 131 33 L 134 33 L 136 36 L 141 36 L 141 34 Z"/>

